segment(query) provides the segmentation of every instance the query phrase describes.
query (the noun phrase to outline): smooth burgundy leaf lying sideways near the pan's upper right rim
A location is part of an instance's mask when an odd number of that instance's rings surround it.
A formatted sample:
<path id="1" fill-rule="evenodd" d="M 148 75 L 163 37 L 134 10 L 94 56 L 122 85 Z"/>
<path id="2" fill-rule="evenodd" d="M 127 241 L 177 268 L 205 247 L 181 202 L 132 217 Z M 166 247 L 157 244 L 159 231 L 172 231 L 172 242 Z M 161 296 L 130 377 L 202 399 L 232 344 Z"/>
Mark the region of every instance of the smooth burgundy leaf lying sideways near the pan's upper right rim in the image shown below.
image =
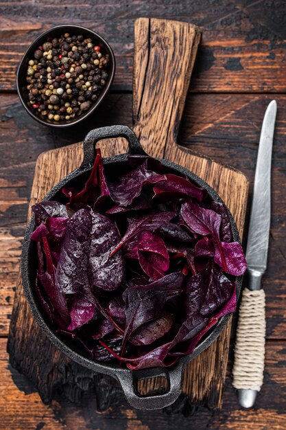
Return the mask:
<path id="1" fill-rule="evenodd" d="M 179 177 L 177 174 L 166 174 L 167 181 L 160 181 L 154 185 L 155 196 L 157 201 L 174 201 L 182 197 L 193 197 L 202 201 L 206 195 L 205 190 L 198 188 L 189 179 Z"/>

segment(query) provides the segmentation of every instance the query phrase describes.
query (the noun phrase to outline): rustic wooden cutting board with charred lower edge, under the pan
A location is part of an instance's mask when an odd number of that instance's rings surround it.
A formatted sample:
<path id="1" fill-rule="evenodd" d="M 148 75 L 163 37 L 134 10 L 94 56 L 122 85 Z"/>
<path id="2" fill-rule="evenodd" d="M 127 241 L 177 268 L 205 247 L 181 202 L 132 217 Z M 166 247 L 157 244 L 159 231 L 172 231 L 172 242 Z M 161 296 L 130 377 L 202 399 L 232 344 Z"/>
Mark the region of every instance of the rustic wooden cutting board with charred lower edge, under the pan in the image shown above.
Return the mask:
<path id="1" fill-rule="evenodd" d="M 200 30 L 195 25 L 147 18 L 136 21 L 133 129 L 147 153 L 174 161 L 208 182 L 229 207 L 242 236 L 248 196 L 246 177 L 176 144 L 199 42 Z M 108 139 L 99 146 L 104 157 L 127 150 L 127 142 L 123 139 Z M 82 155 L 82 143 L 40 155 L 36 162 L 31 205 L 43 199 L 53 185 L 80 166 Z M 208 350 L 187 365 L 182 392 L 192 403 L 222 407 L 229 342 L 230 324 Z M 104 383 L 109 388 L 101 395 L 106 396 L 108 407 L 108 396 L 116 383 L 74 363 L 51 345 L 32 317 L 20 277 L 8 350 L 12 365 L 32 380 L 45 402 L 55 393 L 75 400 L 83 391 L 97 390 Z M 139 391 L 145 394 L 164 385 L 163 378 L 150 378 L 140 382 Z"/>

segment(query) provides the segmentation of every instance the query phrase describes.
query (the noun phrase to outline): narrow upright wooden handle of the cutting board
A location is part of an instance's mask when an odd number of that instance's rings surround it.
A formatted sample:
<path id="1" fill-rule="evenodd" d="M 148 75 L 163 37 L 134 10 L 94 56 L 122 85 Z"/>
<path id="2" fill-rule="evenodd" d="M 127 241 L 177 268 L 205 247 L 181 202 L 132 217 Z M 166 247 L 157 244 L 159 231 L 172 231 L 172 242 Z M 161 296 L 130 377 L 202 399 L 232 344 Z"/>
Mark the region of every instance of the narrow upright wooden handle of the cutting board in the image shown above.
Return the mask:
<path id="1" fill-rule="evenodd" d="M 176 144 L 200 35 L 196 25 L 180 21 L 135 21 L 133 130 L 153 157 Z"/>

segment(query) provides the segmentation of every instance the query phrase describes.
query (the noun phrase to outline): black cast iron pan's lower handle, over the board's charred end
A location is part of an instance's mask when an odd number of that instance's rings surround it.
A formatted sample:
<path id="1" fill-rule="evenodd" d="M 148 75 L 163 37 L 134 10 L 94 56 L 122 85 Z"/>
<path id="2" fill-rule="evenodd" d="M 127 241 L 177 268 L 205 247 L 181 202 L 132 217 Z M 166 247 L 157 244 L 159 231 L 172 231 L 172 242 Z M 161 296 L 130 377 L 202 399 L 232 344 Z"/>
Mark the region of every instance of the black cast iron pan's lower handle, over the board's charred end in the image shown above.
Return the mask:
<path id="1" fill-rule="evenodd" d="M 182 370 L 184 364 L 178 362 L 172 369 L 154 368 L 148 370 L 133 370 L 131 372 L 117 372 L 116 378 L 119 381 L 123 394 L 129 405 L 142 410 L 161 409 L 174 403 L 182 391 Z M 141 396 L 137 389 L 140 379 L 153 378 L 154 376 L 165 376 L 169 388 L 163 394 L 153 396 Z"/>

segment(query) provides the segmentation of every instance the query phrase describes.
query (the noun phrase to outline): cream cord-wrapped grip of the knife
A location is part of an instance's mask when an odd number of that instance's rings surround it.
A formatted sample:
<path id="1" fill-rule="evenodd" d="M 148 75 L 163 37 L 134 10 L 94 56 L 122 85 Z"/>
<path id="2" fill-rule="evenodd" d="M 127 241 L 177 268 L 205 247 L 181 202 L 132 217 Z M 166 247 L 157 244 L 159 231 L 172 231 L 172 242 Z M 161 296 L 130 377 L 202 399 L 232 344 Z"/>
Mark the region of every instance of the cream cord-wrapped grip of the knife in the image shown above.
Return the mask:
<path id="1" fill-rule="evenodd" d="M 239 307 L 233 386 L 260 391 L 265 356 L 265 292 L 244 288 Z"/>

